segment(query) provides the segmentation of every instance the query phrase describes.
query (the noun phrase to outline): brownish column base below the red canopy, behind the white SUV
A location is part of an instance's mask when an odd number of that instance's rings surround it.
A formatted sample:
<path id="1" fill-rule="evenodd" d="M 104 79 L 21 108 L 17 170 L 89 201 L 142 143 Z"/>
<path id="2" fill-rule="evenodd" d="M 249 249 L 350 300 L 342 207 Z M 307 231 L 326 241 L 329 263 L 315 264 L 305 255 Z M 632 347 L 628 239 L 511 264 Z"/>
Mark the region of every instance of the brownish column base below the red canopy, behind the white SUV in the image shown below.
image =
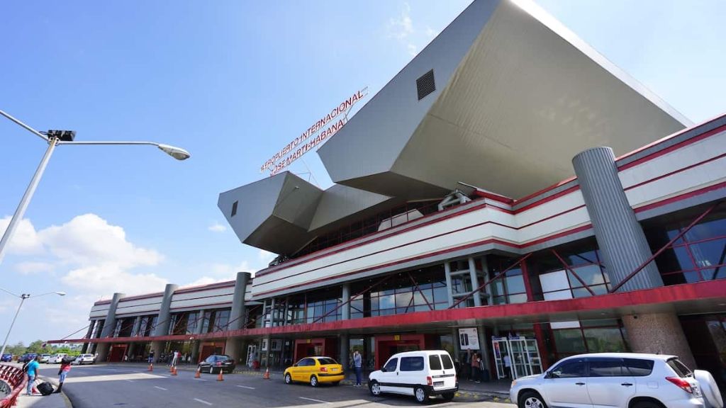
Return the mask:
<path id="1" fill-rule="evenodd" d="M 624 316 L 623 326 L 634 353 L 673 354 L 691 370 L 696 368 L 688 340 L 674 312 Z"/>

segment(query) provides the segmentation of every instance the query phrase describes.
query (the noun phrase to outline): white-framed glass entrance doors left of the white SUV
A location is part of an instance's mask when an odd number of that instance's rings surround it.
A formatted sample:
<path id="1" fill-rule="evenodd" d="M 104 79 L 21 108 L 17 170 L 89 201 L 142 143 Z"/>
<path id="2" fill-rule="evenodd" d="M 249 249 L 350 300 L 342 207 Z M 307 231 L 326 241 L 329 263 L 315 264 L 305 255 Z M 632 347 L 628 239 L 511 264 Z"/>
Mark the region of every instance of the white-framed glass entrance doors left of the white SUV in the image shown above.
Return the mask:
<path id="1" fill-rule="evenodd" d="M 497 378 L 525 377 L 542 373 L 542 359 L 539 357 L 537 340 L 523 336 L 506 338 L 492 336 L 494 366 Z"/>

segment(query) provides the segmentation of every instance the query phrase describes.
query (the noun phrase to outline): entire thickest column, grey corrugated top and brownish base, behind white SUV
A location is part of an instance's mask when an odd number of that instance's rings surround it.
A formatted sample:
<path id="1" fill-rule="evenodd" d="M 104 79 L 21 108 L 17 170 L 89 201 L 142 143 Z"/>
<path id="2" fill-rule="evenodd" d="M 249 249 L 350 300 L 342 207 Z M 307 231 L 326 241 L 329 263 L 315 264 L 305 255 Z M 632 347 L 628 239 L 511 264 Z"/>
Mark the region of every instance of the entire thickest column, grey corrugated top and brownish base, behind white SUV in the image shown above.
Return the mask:
<path id="1" fill-rule="evenodd" d="M 595 147 L 572 159 L 595 239 L 612 285 L 624 280 L 652 255 L 643 228 L 628 203 L 618 176 L 615 155 L 609 147 Z M 651 262 L 619 292 L 663 285 L 655 262 Z M 632 351 L 675 354 L 690 367 L 693 355 L 674 311 L 622 318 Z"/>

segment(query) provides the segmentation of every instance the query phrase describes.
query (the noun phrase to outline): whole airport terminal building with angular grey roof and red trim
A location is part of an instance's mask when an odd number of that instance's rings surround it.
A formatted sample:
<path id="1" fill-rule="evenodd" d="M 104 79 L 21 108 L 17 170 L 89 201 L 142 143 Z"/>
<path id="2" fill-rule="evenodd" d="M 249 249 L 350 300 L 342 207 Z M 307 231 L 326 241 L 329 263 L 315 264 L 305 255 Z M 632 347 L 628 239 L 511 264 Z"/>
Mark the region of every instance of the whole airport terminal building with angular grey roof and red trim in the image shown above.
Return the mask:
<path id="1" fill-rule="evenodd" d="M 659 352 L 724 380 L 726 115 L 693 125 L 537 7 L 474 1 L 318 154 L 333 187 L 219 195 L 268 268 L 117 293 L 65 341 L 263 367 L 473 350 L 494 378 Z"/>

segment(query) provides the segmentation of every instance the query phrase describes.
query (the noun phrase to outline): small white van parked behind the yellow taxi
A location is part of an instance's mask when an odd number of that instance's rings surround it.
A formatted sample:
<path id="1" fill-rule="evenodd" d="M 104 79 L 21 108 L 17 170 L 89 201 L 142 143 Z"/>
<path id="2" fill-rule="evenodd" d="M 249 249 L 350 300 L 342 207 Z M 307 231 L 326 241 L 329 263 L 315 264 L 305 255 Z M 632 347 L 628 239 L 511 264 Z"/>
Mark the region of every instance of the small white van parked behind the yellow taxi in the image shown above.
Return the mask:
<path id="1" fill-rule="evenodd" d="M 368 388 L 374 396 L 401 393 L 424 403 L 429 396 L 454 399 L 459 380 L 451 356 L 445 350 L 407 351 L 394 354 L 380 370 L 370 373 Z"/>

